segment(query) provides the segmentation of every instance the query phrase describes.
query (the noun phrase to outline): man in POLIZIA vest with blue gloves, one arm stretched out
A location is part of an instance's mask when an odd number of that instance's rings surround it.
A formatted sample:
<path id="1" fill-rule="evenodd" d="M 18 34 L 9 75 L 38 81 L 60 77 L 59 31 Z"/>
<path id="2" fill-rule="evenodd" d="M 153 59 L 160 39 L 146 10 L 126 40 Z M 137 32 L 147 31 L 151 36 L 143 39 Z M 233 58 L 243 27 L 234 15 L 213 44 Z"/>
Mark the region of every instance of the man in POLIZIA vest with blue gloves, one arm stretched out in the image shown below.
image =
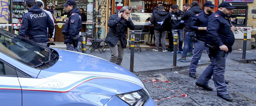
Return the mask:
<path id="1" fill-rule="evenodd" d="M 162 19 L 161 22 L 157 22 L 157 23 L 162 25 L 164 21 L 167 21 L 167 19 L 171 20 L 171 32 L 173 33 L 173 37 L 174 37 L 174 30 L 178 30 L 179 50 L 177 51 L 177 53 L 182 53 L 182 51 L 183 51 L 183 49 L 182 49 L 182 45 L 183 45 L 183 31 L 184 31 L 183 30 L 183 28 L 184 28 L 183 22 L 184 21 L 181 20 L 181 17 L 184 14 L 184 12 L 179 10 L 179 6 L 178 5 L 171 6 L 171 9 L 173 11 L 171 11 L 168 15 L 166 15 L 165 18 Z M 173 52 L 172 52 L 172 54 L 173 54 Z"/>

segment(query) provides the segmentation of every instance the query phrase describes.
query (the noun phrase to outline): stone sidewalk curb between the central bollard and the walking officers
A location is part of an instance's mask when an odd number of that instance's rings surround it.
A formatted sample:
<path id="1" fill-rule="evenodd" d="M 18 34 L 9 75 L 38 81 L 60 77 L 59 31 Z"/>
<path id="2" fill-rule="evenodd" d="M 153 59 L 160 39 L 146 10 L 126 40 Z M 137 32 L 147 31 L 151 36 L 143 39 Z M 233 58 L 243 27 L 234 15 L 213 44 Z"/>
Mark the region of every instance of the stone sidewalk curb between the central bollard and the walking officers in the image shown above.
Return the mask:
<path id="1" fill-rule="evenodd" d="M 198 66 L 205 66 L 205 65 L 209 65 L 210 63 L 203 63 L 203 64 L 198 64 Z M 145 71 L 136 71 L 134 72 L 135 75 L 140 75 L 140 74 L 150 74 L 150 73 L 159 73 L 159 72 L 175 72 L 177 70 L 182 70 L 182 69 L 186 69 L 189 68 L 190 65 L 186 65 L 186 66 L 179 66 L 179 67 L 171 67 L 171 65 L 169 66 L 170 68 L 164 68 L 164 69 L 156 69 L 156 70 L 145 70 Z"/>

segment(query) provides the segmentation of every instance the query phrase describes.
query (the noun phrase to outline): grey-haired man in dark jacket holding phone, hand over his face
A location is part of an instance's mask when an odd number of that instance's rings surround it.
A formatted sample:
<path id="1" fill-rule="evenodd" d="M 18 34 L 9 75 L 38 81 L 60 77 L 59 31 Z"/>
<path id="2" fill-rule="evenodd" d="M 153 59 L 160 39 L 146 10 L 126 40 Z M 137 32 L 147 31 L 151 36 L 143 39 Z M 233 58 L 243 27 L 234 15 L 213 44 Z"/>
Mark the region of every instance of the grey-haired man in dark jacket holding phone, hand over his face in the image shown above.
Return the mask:
<path id="1" fill-rule="evenodd" d="M 123 53 L 127 45 L 127 28 L 131 30 L 134 29 L 134 24 L 129 17 L 130 13 L 131 8 L 129 6 L 123 6 L 118 14 L 109 17 L 107 24 L 109 32 L 107 33 L 105 41 L 109 45 L 111 52 L 109 61 L 117 65 L 121 65 L 123 60 Z"/>

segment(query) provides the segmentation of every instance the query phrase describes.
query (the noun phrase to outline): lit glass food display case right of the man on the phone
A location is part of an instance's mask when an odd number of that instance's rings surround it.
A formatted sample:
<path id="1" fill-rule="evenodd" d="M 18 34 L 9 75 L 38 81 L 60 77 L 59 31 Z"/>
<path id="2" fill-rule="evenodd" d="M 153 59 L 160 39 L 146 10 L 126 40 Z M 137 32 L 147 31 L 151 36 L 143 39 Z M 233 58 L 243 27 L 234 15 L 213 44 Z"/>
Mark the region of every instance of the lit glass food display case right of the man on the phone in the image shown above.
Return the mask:
<path id="1" fill-rule="evenodd" d="M 130 18 L 134 25 L 152 25 L 150 19 L 152 13 L 131 13 Z"/>

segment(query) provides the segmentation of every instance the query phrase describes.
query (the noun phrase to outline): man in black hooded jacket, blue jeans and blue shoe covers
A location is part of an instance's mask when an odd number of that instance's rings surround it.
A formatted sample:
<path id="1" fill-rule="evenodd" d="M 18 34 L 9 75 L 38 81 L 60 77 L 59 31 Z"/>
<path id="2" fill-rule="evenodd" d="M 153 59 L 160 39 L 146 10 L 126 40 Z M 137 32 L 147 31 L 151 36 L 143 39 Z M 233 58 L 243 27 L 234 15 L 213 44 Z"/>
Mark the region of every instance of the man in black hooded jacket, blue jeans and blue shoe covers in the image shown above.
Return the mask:
<path id="1" fill-rule="evenodd" d="M 189 8 L 189 10 L 187 10 L 184 13 L 184 15 L 181 17 L 181 20 L 186 20 L 187 23 L 185 28 L 185 39 L 184 39 L 185 41 L 184 41 L 183 53 L 181 58 L 177 59 L 178 61 L 186 62 L 187 52 L 189 50 L 191 50 L 192 52 L 192 49 L 193 49 L 192 39 L 193 39 L 193 36 L 195 35 L 195 31 L 192 30 L 189 25 L 191 23 L 191 19 L 192 19 L 191 17 L 202 11 L 203 11 L 202 8 L 199 7 L 199 3 L 197 1 L 193 1 L 191 3 L 191 8 Z"/>

